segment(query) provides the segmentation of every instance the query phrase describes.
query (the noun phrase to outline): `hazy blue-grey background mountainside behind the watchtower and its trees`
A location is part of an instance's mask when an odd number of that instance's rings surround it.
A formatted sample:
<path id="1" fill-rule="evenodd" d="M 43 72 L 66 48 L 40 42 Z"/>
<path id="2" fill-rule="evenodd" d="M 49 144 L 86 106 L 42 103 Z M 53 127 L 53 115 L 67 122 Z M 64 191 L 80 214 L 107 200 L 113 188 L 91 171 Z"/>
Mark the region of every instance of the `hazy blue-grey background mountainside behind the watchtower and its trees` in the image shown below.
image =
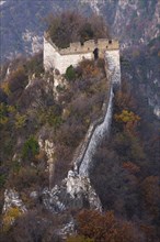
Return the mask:
<path id="1" fill-rule="evenodd" d="M 1 58 L 33 53 L 42 47 L 44 18 L 61 10 L 96 12 L 110 24 L 122 47 L 147 44 L 159 35 L 158 0 L 5 0 L 1 10 Z"/>

